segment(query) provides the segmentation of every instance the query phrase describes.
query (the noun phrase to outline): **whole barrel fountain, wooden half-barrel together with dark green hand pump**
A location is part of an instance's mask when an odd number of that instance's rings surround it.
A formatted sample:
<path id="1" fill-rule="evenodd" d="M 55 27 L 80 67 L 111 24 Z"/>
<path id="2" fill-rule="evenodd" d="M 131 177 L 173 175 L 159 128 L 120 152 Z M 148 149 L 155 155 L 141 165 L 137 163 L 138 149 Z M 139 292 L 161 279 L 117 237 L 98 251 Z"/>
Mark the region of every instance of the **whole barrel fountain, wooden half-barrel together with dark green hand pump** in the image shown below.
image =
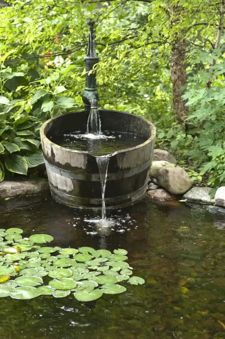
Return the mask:
<path id="1" fill-rule="evenodd" d="M 64 114 L 46 121 L 41 127 L 40 136 L 53 199 L 73 207 L 102 207 L 104 218 L 105 206 L 121 208 L 144 197 L 156 129 L 150 121 L 134 114 L 104 109 L 98 111 L 96 71 L 93 67 L 99 58 L 95 52 L 93 20 L 88 23 L 88 53 L 84 57 L 85 111 Z M 83 133 L 87 139 L 90 135 L 101 139 L 105 133 L 116 133 L 118 137 L 133 136 L 140 142 L 135 145 L 133 142 L 127 143 L 121 149 L 99 156 L 93 147 L 76 149 L 55 141 L 59 135 L 73 136 L 79 133 Z"/>

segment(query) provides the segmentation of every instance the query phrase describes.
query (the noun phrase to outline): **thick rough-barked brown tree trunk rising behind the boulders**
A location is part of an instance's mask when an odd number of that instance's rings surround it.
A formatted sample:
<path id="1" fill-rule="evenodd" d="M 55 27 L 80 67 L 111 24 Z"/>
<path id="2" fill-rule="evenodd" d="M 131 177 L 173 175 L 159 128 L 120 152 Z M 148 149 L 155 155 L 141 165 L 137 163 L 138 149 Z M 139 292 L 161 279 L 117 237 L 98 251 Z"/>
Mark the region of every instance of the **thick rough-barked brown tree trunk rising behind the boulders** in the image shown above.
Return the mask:
<path id="1" fill-rule="evenodd" d="M 175 119 L 179 123 L 184 123 L 184 117 L 188 115 L 188 108 L 185 106 L 185 100 L 182 99 L 182 86 L 187 84 L 186 64 L 185 64 L 185 31 L 179 30 L 180 15 L 182 6 L 173 6 L 171 8 L 171 29 L 174 39 L 172 41 L 171 51 L 171 79 L 173 86 L 173 109 Z"/>

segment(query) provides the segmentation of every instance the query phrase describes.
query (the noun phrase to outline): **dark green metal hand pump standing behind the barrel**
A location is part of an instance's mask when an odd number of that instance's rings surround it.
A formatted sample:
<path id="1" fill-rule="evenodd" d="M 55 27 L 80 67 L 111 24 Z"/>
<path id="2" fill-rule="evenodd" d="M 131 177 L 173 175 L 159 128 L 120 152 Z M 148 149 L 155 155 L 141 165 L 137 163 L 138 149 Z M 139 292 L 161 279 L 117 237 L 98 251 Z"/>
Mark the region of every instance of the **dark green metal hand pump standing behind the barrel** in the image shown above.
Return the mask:
<path id="1" fill-rule="evenodd" d="M 90 108 L 98 107 L 98 92 L 96 85 L 96 71 L 94 65 L 98 63 L 99 58 L 95 52 L 95 34 L 93 33 L 94 21 L 88 20 L 90 31 L 88 34 L 88 53 L 84 57 L 86 76 L 85 76 L 85 90 L 83 93 L 83 102 L 87 113 L 90 112 Z"/>

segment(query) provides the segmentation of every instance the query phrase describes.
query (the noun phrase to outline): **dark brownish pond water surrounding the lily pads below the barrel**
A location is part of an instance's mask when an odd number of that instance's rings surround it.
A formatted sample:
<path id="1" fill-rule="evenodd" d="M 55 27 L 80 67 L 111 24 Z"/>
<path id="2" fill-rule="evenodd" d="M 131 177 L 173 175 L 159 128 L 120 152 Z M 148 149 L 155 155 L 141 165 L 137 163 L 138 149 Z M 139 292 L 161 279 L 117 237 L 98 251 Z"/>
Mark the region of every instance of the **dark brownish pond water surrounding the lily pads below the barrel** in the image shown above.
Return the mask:
<path id="1" fill-rule="evenodd" d="M 225 338 L 225 214 L 145 200 L 108 213 L 114 225 L 99 228 L 87 221 L 97 212 L 50 197 L 13 206 L 10 200 L 0 206 L 0 227 L 47 233 L 59 246 L 125 248 L 146 283 L 87 304 L 72 295 L 1 298 L 1 339 Z"/>

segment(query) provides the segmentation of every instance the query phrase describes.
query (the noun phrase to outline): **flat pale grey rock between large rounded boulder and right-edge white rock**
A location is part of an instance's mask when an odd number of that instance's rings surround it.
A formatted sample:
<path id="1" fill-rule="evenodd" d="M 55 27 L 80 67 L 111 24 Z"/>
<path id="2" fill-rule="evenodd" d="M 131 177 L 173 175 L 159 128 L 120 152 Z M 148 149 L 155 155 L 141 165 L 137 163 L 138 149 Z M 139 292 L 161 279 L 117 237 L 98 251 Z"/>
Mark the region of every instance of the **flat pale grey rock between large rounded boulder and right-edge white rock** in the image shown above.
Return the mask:
<path id="1" fill-rule="evenodd" d="M 215 200 L 210 197 L 210 192 L 210 187 L 192 187 L 190 191 L 184 194 L 183 199 L 213 205 Z"/>

